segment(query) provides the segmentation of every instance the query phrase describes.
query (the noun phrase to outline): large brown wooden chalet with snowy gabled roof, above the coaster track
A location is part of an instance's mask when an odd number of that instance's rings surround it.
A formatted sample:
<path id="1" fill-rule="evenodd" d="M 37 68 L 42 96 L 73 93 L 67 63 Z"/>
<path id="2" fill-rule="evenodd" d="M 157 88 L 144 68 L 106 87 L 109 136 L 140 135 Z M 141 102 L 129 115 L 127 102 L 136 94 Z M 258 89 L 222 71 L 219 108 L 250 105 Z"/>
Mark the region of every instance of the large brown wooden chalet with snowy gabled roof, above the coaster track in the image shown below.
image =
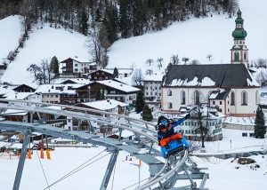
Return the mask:
<path id="1" fill-rule="evenodd" d="M 115 99 L 133 104 L 140 89 L 114 80 L 95 81 L 77 88 L 77 102 L 95 101 L 97 96 L 103 99 Z"/>

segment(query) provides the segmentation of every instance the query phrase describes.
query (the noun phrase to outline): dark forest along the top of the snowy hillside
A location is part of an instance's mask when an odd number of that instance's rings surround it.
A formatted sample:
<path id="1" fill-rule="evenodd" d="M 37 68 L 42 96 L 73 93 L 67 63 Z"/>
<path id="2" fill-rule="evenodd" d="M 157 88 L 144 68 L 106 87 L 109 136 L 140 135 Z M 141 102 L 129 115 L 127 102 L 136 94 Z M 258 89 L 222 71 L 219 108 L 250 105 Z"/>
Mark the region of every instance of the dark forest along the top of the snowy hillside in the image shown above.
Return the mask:
<path id="1" fill-rule="evenodd" d="M 89 36 L 93 61 L 105 66 L 117 39 L 166 28 L 174 21 L 236 12 L 238 0 L 1 0 L 0 19 L 22 16 L 24 39 L 36 23 Z"/>

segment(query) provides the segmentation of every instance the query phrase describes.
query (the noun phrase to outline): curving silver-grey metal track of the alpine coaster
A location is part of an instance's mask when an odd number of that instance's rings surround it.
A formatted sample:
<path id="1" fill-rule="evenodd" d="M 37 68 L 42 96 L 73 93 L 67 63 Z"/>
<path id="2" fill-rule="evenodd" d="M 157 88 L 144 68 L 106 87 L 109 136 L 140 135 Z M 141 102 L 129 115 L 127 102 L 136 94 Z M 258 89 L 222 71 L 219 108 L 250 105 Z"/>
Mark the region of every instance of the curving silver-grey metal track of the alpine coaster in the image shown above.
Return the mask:
<path id="1" fill-rule="evenodd" d="M 100 136 L 92 134 L 92 133 L 85 133 L 83 131 L 66 131 L 61 128 L 56 128 L 56 127 L 44 125 L 41 123 L 17 123 L 17 122 L 7 122 L 7 121 L 0 122 L 0 129 L 13 130 L 13 131 L 25 131 L 25 130 L 36 131 L 36 132 L 40 132 L 43 134 L 52 135 L 55 137 L 61 137 L 64 139 L 74 139 L 77 141 L 88 142 L 88 143 L 92 143 L 95 145 L 107 146 L 110 149 L 112 149 L 112 147 L 115 147 L 117 148 L 117 150 L 124 150 L 130 154 L 134 154 L 134 156 L 141 159 L 142 162 L 145 162 L 150 165 L 150 175 L 154 176 L 153 178 L 150 178 L 150 180 L 146 184 L 137 188 L 138 190 L 149 188 L 150 186 L 154 186 L 157 183 L 159 183 L 159 186 L 161 186 L 160 184 L 162 181 L 167 181 L 168 178 L 170 179 L 170 178 L 173 178 L 174 175 L 177 175 L 177 172 L 181 171 L 182 166 L 184 166 L 186 160 L 188 160 L 189 158 L 188 151 L 185 150 L 181 161 L 178 162 L 171 170 L 166 172 L 165 170 L 166 163 L 163 164 L 155 157 L 155 155 L 151 154 L 151 149 L 153 149 L 152 152 L 154 154 L 156 153 L 158 155 L 159 153 L 158 150 L 154 149 L 152 146 L 153 142 L 158 141 L 158 139 L 156 138 L 157 133 L 154 130 L 154 124 L 146 122 L 146 121 L 142 121 L 142 120 L 130 117 L 130 116 L 117 115 L 117 114 L 113 114 L 113 113 L 109 113 L 105 111 L 84 108 L 84 107 L 73 107 L 73 106 L 49 104 L 49 103 L 36 103 L 36 102 L 31 102 L 31 101 L 22 101 L 22 100 L 13 100 L 13 99 L 1 99 L 0 102 L 6 102 L 6 103 L 0 103 L 0 107 L 5 108 L 5 109 L 11 108 L 11 109 L 17 109 L 17 110 L 25 110 L 30 113 L 37 113 L 38 115 L 39 113 L 44 113 L 44 114 L 51 114 L 51 115 L 70 116 L 73 118 L 86 120 L 90 122 L 108 124 L 116 128 L 127 130 L 127 131 L 133 131 L 136 135 L 138 134 L 139 137 L 149 139 L 149 142 L 152 142 L 151 146 L 148 146 L 150 149 L 149 154 L 141 154 L 140 153 L 140 141 L 137 142 L 137 144 L 136 142 L 123 143 L 120 140 L 100 138 Z M 15 105 L 14 103 L 21 103 L 21 105 L 17 105 L 17 104 Z M 44 106 L 61 107 L 61 110 L 47 108 Z M 63 110 L 63 108 L 71 109 L 72 111 Z M 73 110 L 76 110 L 76 111 L 73 111 Z M 112 115 L 112 116 L 116 116 L 117 118 L 103 117 L 99 115 L 81 113 L 81 111 L 97 113 L 101 115 Z M 124 118 L 125 121 L 122 121 L 121 118 Z M 153 127 L 149 127 L 149 126 L 153 126 Z M 159 167 L 158 169 L 156 169 L 157 170 L 156 173 L 155 173 L 155 169 L 152 169 L 154 170 L 154 172 L 151 173 L 151 168 L 153 167 L 154 168 Z M 162 173 L 164 172 L 166 173 L 162 175 Z M 208 176 L 206 178 L 208 178 Z M 105 179 L 105 180 L 107 181 L 108 179 Z M 201 187 L 204 186 L 205 182 L 206 182 L 206 179 L 201 184 Z"/>

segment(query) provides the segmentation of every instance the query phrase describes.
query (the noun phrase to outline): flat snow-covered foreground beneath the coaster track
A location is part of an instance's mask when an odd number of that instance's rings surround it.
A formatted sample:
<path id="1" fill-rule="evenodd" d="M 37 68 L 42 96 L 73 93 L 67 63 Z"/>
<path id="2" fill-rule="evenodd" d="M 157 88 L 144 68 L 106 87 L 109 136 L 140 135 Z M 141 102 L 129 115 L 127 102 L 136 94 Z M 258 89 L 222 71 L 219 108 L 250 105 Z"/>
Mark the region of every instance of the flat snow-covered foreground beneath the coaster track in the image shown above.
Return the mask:
<path id="1" fill-rule="evenodd" d="M 93 158 L 94 155 L 101 153 L 103 150 L 103 147 L 57 147 L 51 152 L 51 160 L 41 160 L 48 184 L 53 184 L 53 182 L 68 174 L 69 171 L 76 169 L 79 165 Z M 25 162 L 20 183 L 21 190 L 38 190 L 46 187 L 44 173 L 36 153 L 40 154 L 34 151 L 32 159 L 27 159 Z M 55 184 L 50 189 L 99 189 L 110 157 L 109 154 L 100 159 L 105 154 L 107 152 L 100 154 L 97 157 L 99 159 L 97 162 L 93 162 L 95 160 L 90 161 L 93 163 L 85 167 L 85 169 L 79 170 L 77 173 L 69 176 L 69 178 Z M 127 186 L 138 183 L 138 160 L 131 157 L 132 161 L 129 161 L 130 156 L 128 156 L 126 161 L 126 155 L 128 154 L 125 152 L 120 152 L 118 155 L 114 180 L 113 173 L 107 189 L 112 189 L 112 181 L 113 189 L 116 190 L 124 189 Z M 251 156 L 251 158 L 255 159 L 256 163 L 260 165 L 259 169 L 252 170 L 249 167 L 250 165 L 240 165 L 237 161 L 231 162 L 233 159 L 222 160 L 214 157 L 192 157 L 199 167 L 208 167 L 206 171 L 210 174 L 210 178 L 206 182 L 206 187 L 209 189 L 263 189 L 263 186 L 267 185 L 267 176 L 263 176 L 267 172 L 267 156 L 262 157 L 258 155 Z M 12 157 L 10 160 L 9 156 L 0 156 L 0 172 L 4 173 L 4 180 L 2 180 L 0 185 L 1 189 L 12 189 L 18 161 L 18 157 Z M 236 169 L 236 167 L 239 167 L 239 169 Z M 142 163 L 141 180 L 148 177 L 149 168 L 146 164 Z M 189 181 L 183 181 L 181 183 L 182 185 L 189 184 Z M 129 189 L 134 189 L 136 186 Z M 176 186 L 179 186 L 179 182 Z"/>

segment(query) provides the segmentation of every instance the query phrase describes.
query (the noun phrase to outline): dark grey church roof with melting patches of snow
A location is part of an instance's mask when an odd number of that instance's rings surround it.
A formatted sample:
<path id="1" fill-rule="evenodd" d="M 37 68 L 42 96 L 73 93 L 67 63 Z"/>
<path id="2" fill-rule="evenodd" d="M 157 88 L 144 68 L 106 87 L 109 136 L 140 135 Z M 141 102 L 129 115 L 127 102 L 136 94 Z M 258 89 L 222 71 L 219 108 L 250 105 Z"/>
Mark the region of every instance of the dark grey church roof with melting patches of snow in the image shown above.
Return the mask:
<path id="1" fill-rule="evenodd" d="M 260 85 L 244 64 L 214 64 L 170 66 L 162 86 L 243 88 Z"/>

